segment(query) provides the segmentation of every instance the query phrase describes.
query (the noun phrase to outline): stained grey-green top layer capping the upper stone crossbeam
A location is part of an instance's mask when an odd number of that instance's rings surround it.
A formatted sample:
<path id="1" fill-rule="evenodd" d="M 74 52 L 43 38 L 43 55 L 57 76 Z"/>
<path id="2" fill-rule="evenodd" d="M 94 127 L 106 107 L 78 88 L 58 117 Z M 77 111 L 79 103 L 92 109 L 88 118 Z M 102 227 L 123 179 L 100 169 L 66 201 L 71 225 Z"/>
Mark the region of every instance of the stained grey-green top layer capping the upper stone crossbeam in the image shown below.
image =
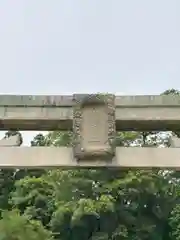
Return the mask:
<path id="1" fill-rule="evenodd" d="M 79 97 L 83 97 L 87 94 L 78 95 Z M 92 98 L 90 99 L 92 100 Z M 0 95 L 0 106 L 72 107 L 73 105 L 72 95 Z M 115 105 L 116 107 L 180 107 L 180 97 L 159 95 L 116 96 Z"/>

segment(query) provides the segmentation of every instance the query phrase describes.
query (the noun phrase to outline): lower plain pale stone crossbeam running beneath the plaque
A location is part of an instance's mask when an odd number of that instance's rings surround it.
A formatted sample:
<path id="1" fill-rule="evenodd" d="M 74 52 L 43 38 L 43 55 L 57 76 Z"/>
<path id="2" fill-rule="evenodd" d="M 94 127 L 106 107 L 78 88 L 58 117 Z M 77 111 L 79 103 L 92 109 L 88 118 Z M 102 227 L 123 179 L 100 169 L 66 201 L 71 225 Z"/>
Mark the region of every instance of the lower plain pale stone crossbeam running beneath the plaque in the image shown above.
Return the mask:
<path id="1" fill-rule="evenodd" d="M 0 168 L 161 168 L 180 169 L 179 148 L 118 147 L 112 162 L 76 161 L 67 147 L 0 147 Z"/>

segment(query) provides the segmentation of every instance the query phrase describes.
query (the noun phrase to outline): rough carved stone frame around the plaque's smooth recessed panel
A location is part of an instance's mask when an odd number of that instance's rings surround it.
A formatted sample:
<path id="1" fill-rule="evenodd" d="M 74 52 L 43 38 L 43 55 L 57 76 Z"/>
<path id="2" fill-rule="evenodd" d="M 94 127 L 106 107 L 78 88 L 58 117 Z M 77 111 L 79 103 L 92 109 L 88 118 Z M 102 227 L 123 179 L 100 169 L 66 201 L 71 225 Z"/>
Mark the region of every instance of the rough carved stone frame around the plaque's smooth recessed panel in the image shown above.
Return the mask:
<path id="1" fill-rule="evenodd" d="M 115 156 L 115 96 L 113 94 L 75 94 L 73 109 L 73 152 L 74 157 L 78 161 L 112 161 Z M 103 148 L 83 148 L 82 139 L 82 124 L 83 124 L 83 109 L 89 106 L 101 105 L 104 107 L 107 114 L 107 135 L 106 147 Z"/>

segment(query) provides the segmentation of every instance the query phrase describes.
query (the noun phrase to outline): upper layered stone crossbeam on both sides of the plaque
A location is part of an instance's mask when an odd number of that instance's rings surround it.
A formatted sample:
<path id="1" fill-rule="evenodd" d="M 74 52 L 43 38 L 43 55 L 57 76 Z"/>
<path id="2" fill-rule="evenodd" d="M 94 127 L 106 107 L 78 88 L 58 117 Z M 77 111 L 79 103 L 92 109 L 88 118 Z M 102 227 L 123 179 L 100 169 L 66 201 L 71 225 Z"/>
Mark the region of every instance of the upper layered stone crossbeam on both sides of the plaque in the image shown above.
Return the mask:
<path id="1" fill-rule="evenodd" d="M 116 96 L 117 130 L 180 130 L 180 97 Z M 71 130 L 73 96 L 0 95 L 0 129 Z"/>

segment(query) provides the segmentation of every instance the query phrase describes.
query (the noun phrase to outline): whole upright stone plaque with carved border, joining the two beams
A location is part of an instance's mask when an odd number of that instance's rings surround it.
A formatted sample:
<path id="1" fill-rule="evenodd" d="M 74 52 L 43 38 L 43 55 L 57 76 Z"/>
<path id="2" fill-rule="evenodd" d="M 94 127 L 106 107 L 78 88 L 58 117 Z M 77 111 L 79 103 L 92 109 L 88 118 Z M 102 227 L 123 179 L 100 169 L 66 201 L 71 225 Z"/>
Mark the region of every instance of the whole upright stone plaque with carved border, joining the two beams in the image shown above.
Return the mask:
<path id="1" fill-rule="evenodd" d="M 105 160 L 114 156 L 113 95 L 74 96 L 74 156 L 77 160 Z"/>

